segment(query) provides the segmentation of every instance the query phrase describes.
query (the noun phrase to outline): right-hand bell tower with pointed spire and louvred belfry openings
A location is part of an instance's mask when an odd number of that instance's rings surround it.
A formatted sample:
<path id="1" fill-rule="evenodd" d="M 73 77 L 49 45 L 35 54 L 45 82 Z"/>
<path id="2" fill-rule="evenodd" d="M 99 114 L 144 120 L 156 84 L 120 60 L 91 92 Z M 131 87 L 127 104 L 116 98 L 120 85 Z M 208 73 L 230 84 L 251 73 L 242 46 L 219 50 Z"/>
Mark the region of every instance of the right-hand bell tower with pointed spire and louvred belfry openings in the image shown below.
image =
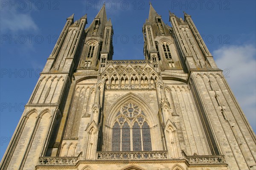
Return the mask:
<path id="1" fill-rule="evenodd" d="M 182 69 L 172 28 L 166 25 L 150 3 L 148 19 L 143 25 L 144 55 L 160 70 Z"/>

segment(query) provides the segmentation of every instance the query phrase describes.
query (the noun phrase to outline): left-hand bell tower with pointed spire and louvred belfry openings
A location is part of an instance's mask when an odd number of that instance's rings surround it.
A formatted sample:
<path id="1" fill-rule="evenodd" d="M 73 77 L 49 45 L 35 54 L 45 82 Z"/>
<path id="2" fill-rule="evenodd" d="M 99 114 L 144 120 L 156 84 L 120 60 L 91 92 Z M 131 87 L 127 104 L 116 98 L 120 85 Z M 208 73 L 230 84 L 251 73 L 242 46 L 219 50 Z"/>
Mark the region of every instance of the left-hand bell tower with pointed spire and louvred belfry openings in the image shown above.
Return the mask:
<path id="1" fill-rule="evenodd" d="M 104 63 L 113 56 L 112 35 L 112 23 L 110 19 L 107 20 L 104 4 L 89 28 L 85 30 L 78 69 L 104 67 Z"/>

